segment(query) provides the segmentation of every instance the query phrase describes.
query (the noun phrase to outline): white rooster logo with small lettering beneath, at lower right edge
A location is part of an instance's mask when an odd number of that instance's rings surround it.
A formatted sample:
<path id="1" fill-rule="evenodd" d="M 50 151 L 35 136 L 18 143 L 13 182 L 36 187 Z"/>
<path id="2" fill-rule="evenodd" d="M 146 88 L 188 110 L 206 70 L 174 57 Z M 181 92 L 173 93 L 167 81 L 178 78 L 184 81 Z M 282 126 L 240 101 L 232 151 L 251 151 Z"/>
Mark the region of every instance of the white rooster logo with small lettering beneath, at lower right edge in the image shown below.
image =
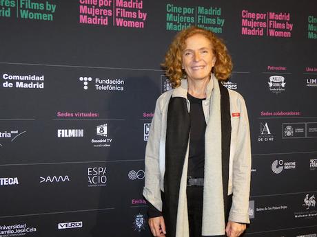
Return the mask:
<path id="1" fill-rule="evenodd" d="M 299 212 L 294 212 L 295 218 L 316 218 L 316 194 L 306 194 L 302 197 Z"/>

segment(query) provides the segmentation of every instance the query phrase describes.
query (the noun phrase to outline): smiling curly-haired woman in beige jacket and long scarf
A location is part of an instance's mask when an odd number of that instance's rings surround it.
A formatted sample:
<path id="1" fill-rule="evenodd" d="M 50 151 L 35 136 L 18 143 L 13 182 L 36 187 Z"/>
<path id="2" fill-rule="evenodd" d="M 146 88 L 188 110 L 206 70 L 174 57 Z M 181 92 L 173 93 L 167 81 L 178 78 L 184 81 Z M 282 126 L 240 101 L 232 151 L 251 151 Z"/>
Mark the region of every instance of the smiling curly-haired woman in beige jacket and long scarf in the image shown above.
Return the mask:
<path id="1" fill-rule="evenodd" d="M 154 236 L 239 236 L 249 223 L 251 148 L 245 102 L 223 87 L 232 61 L 212 32 L 189 27 L 163 66 L 163 93 L 145 150 L 145 187 Z"/>

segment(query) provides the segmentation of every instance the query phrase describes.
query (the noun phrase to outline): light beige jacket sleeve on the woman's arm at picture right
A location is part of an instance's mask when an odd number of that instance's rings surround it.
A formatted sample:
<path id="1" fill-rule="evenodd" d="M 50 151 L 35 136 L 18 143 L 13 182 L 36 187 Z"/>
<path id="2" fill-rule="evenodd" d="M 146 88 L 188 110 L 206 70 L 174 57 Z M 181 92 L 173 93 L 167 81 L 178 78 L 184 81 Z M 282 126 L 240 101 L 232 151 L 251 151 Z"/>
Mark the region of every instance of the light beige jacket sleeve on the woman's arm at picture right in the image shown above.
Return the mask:
<path id="1" fill-rule="evenodd" d="M 229 221 L 249 223 L 249 192 L 251 181 L 251 142 L 247 108 L 242 96 L 238 96 L 240 120 L 238 122 L 236 151 L 233 157 L 232 207 Z"/>

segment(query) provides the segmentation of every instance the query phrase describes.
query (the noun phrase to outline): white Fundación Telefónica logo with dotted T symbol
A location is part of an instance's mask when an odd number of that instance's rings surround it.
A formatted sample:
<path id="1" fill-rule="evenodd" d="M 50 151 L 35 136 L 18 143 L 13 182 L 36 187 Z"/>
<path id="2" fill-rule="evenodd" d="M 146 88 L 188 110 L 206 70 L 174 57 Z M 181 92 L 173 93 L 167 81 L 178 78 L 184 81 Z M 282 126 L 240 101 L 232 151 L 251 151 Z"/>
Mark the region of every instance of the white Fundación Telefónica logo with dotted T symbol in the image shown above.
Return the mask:
<path id="1" fill-rule="evenodd" d="M 79 81 L 83 82 L 83 89 L 88 90 L 90 82 L 94 83 L 94 89 L 96 91 L 124 91 L 125 81 L 120 78 L 94 78 L 91 76 L 81 76 Z"/>

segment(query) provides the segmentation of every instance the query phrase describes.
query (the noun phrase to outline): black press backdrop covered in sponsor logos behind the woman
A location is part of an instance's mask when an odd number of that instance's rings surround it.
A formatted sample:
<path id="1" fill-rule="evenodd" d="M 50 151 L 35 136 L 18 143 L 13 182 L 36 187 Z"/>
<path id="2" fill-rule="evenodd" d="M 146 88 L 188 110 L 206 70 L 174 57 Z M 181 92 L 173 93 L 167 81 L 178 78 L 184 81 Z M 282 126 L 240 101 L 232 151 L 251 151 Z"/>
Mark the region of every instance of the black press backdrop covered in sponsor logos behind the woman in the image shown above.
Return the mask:
<path id="1" fill-rule="evenodd" d="M 0 236 L 150 236 L 144 150 L 170 89 L 159 65 L 190 24 L 224 39 L 225 84 L 247 103 L 246 236 L 316 236 L 316 6 L 0 1 Z"/>

